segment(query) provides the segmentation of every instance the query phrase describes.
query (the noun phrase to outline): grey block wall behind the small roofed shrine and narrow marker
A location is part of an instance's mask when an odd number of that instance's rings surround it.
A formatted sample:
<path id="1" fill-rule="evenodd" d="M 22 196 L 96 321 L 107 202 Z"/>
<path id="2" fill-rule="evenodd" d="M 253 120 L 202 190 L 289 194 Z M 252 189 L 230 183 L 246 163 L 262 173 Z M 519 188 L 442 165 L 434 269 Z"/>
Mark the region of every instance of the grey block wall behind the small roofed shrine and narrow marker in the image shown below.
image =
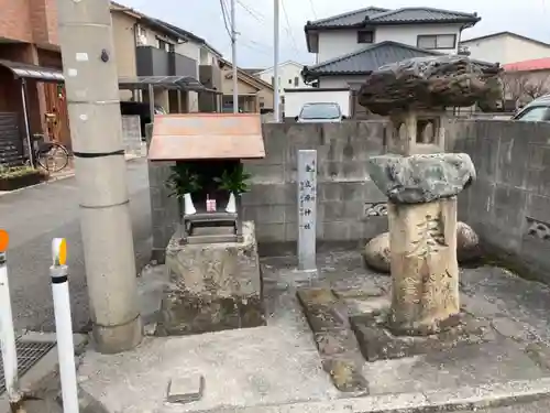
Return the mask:
<path id="1" fill-rule="evenodd" d="M 359 243 L 385 231 L 387 219 L 376 208 L 385 196 L 365 169 L 369 156 L 383 153 L 384 128 L 381 121 L 264 123 L 266 157 L 244 161 L 252 180 L 242 198 L 244 219 L 255 221 L 260 246 L 295 249 L 299 149 L 318 154 L 318 240 Z M 177 202 L 165 187 L 170 165 L 150 163 L 153 257 L 161 262 L 178 222 Z"/>

